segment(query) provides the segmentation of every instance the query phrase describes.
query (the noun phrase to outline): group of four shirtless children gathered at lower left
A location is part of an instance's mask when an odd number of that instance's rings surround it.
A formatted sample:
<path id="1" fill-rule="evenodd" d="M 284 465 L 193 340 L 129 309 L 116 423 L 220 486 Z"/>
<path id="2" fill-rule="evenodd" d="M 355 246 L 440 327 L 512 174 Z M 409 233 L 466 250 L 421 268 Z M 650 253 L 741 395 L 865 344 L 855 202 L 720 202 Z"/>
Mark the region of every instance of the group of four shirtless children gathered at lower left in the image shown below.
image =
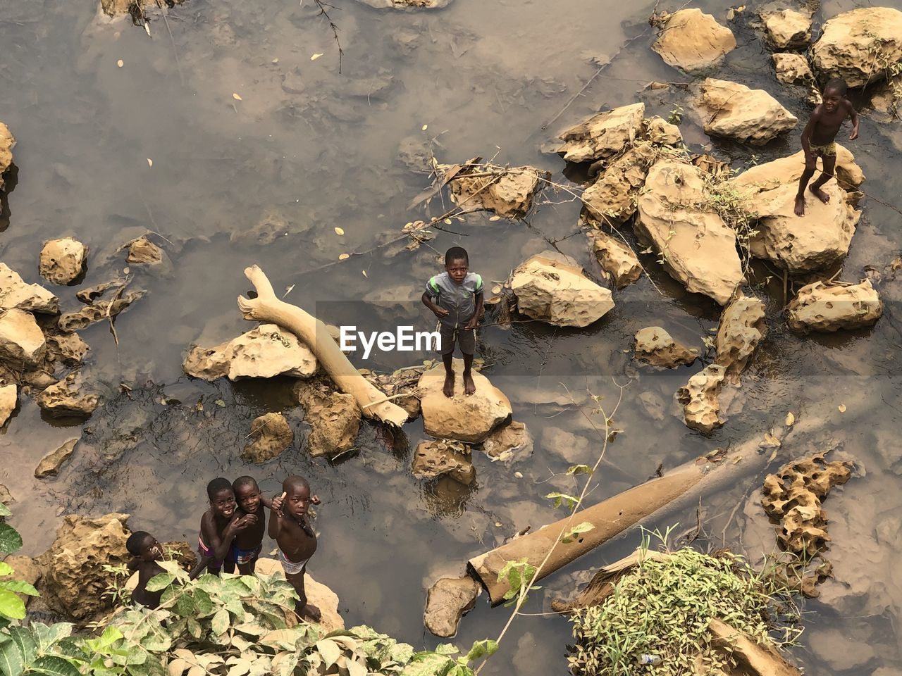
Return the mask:
<path id="1" fill-rule="evenodd" d="M 263 533 L 279 545 L 278 558 L 285 579 L 298 592 L 295 612 L 298 617 L 313 621 L 320 618 L 319 608 L 307 602 L 304 572 L 310 557 L 317 551 L 317 535 L 310 524 L 311 505 L 319 498 L 310 494 L 310 485 L 303 477 L 289 477 L 282 482 L 282 493 L 265 498 L 253 477 L 239 477 L 233 482 L 214 479 L 207 484 L 210 507 L 200 517 L 198 536 L 198 565 L 190 572 L 193 580 L 203 571 L 218 575 L 220 571 L 253 575 L 263 547 Z M 270 510 L 269 527 L 266 509 Z M 164 572 L 160 543 L 149 533 L 133 533 L 125 544 L 134 557 L 130 570 L 138 572 L 132 592 L 133 601 L 145 607 L 158 607 L 162 591 L 148 591 L 147 582 Z"/>

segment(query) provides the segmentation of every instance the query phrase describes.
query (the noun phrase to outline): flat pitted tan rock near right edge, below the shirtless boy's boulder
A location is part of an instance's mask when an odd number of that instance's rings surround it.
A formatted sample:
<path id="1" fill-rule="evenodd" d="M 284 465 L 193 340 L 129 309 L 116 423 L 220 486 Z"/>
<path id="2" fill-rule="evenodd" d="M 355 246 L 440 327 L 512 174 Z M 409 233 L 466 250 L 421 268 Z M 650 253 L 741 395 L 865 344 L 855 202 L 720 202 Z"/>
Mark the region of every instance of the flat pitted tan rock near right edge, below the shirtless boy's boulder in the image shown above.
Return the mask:
<path id="1" fill-rule="evenodd" d="M 799 333 L 832 333 L 874 324 L 883 301 L 865 279 L 859 284 L 815 282 L 799 289 L 787 306 L 787 324 Z"/>

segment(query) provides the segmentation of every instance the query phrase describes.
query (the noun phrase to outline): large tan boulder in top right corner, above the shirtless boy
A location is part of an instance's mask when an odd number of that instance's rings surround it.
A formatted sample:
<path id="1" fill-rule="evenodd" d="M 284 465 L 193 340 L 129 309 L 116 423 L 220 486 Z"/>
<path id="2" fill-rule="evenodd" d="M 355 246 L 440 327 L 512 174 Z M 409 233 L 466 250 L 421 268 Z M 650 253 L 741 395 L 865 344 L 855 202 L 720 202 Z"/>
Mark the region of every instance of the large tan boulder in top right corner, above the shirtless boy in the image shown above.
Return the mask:
<path id="1" fill-rule="evenodd" d="M 879 82 L 902 61 L 902 12 L 861 7 L 838 14 L 824 23 L 812 57 L 823 78 L 843 78 L 849 87 Z"/>

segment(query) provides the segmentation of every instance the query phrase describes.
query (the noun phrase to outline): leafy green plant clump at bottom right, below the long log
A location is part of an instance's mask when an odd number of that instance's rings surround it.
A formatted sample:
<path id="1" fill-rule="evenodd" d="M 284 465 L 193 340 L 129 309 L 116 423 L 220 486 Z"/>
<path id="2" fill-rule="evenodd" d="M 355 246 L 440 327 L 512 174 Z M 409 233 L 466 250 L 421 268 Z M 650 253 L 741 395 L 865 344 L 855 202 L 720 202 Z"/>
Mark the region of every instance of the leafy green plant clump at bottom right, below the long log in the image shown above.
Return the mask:
<path id="1" fill-rule="evenodd" d="M 646 560 L 623 575 L 599 606 L 574 611 L 576 645 L 567 660 L 585 676 L 695 673 L 699 656 L 711 672 L 727 666 L 713 649 L 707 631 L 713 618 L 727 622 L 760 643 L 791 644 L 800 629 L 788 628 L 783 640 L 771 635 L 788 589 L 777 589 L 741 557 L 681 549 L 662 560 Z M 658 664 L 640 664 L 642 654 L 660 656 Z"/>

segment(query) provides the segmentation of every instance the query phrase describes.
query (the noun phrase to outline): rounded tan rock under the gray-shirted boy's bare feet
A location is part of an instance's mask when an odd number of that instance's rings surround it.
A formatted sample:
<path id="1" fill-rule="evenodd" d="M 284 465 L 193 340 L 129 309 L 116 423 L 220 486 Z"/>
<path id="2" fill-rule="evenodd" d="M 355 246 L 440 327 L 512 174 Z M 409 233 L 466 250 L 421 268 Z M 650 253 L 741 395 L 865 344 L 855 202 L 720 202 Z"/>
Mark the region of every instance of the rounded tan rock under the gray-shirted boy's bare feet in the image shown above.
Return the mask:
<path id="1" fill-rule="evenodd" d="M 480 443 L 511 416 L 511 402 L 478 371 L 473 371 L 476 391 L 464 394 L 464 361 L 453 361 L 455 395 L 446 397 L 445 368 L 437 364 L 423 372 L 417 388 L 423 414 L 423 429 L 437 439 Z"/>

